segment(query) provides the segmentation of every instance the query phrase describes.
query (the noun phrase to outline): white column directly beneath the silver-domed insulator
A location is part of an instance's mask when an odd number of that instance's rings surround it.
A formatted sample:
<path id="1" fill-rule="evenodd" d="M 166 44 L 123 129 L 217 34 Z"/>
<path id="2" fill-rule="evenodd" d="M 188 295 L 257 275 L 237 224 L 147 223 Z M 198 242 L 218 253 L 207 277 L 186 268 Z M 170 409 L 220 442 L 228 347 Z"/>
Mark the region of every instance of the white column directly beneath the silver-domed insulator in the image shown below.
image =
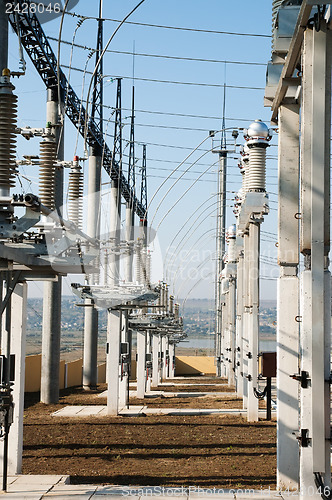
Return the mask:
<path id="1" fill-rule="evenodd" d="M 258 422 L 258 399 L 254 389 L 258 383 L 259 335 L 259 241 L 260 223 L 249 227 L 249 353 L 248 353 L 248 422 Z"/>

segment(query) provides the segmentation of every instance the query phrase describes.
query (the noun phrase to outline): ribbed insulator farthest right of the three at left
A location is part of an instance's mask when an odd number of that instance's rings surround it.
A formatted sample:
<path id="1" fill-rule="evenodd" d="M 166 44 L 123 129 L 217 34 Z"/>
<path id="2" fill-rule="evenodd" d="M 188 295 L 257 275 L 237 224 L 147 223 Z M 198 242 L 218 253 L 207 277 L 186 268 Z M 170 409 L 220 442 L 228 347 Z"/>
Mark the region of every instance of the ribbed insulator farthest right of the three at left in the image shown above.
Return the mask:
<path id="1" fill-rule="evenodd" d="M 69 172 L 68 216 L 79 229 L 83 227 L 83 172 L 74 159 L 74 166 Z"/>

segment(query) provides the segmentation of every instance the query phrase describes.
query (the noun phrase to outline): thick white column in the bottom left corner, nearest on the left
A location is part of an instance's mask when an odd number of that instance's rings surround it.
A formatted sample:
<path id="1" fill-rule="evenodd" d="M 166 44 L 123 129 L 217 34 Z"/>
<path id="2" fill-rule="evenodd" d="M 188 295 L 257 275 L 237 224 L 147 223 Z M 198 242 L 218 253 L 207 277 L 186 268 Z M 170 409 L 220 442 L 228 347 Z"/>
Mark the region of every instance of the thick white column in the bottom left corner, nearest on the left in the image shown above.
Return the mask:
<path id="1" fill-rule="evenodd" d="M 14 418 L 8 442 L 8 474 L 22 474 L 23 413 L 25 382 L 25 349 L 27 318 L 27 284 L 16 285 L 11 298 L 11 354 L 15 355 L 15 382 L 13 386 Z M 4 349 L 4 345 L 2 349 Z M 3 350 L 3 352 L 5 352 Z M 2 449 L 2 443 L 1 443 Z M 0 454 L 0 470 L 2 457 Z"/>

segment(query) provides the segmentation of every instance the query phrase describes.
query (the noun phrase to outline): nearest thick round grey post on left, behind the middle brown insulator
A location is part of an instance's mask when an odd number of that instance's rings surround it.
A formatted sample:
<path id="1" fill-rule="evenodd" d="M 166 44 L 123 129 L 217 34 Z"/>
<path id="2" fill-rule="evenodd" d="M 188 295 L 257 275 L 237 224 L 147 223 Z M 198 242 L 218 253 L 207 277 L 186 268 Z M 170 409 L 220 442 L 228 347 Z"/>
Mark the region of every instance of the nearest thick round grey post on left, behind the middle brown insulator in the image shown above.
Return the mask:
<path id="1" fill-rule="evenodd" d="M 57 89 L 47 90 L 46 121 L 52 125 L 59 124 L 59 102 Z M 59 128 L 54 128 L 58 147 L 58 160 L 64 159 L 64 132 L 61 138 Z M 55 205 L 60 209 L 63 205 L 63 170 L 56 172 Z M 59 366 L 61 340 L 61 288 L 62 278 L 57 282 L 44 283 L 43 299 L 43 333 L 42 333 L 42 373 L 40 400 L 42 403 L 53 404 L 59 401 Z"/>

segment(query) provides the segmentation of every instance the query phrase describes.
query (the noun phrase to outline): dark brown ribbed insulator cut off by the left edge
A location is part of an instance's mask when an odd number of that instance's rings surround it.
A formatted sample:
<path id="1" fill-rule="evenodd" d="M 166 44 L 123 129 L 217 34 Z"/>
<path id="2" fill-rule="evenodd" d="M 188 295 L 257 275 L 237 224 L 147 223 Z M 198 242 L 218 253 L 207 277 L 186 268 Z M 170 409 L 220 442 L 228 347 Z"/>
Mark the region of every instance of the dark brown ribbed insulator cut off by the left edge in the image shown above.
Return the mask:
<path id="1" fill-rule="evenodd" d="M 8 72 L 8 74 L 6 74 Z M 17 96 L 9 80 L 9 70 L 0 78 L 0 189 L 15 185 Z"/>

